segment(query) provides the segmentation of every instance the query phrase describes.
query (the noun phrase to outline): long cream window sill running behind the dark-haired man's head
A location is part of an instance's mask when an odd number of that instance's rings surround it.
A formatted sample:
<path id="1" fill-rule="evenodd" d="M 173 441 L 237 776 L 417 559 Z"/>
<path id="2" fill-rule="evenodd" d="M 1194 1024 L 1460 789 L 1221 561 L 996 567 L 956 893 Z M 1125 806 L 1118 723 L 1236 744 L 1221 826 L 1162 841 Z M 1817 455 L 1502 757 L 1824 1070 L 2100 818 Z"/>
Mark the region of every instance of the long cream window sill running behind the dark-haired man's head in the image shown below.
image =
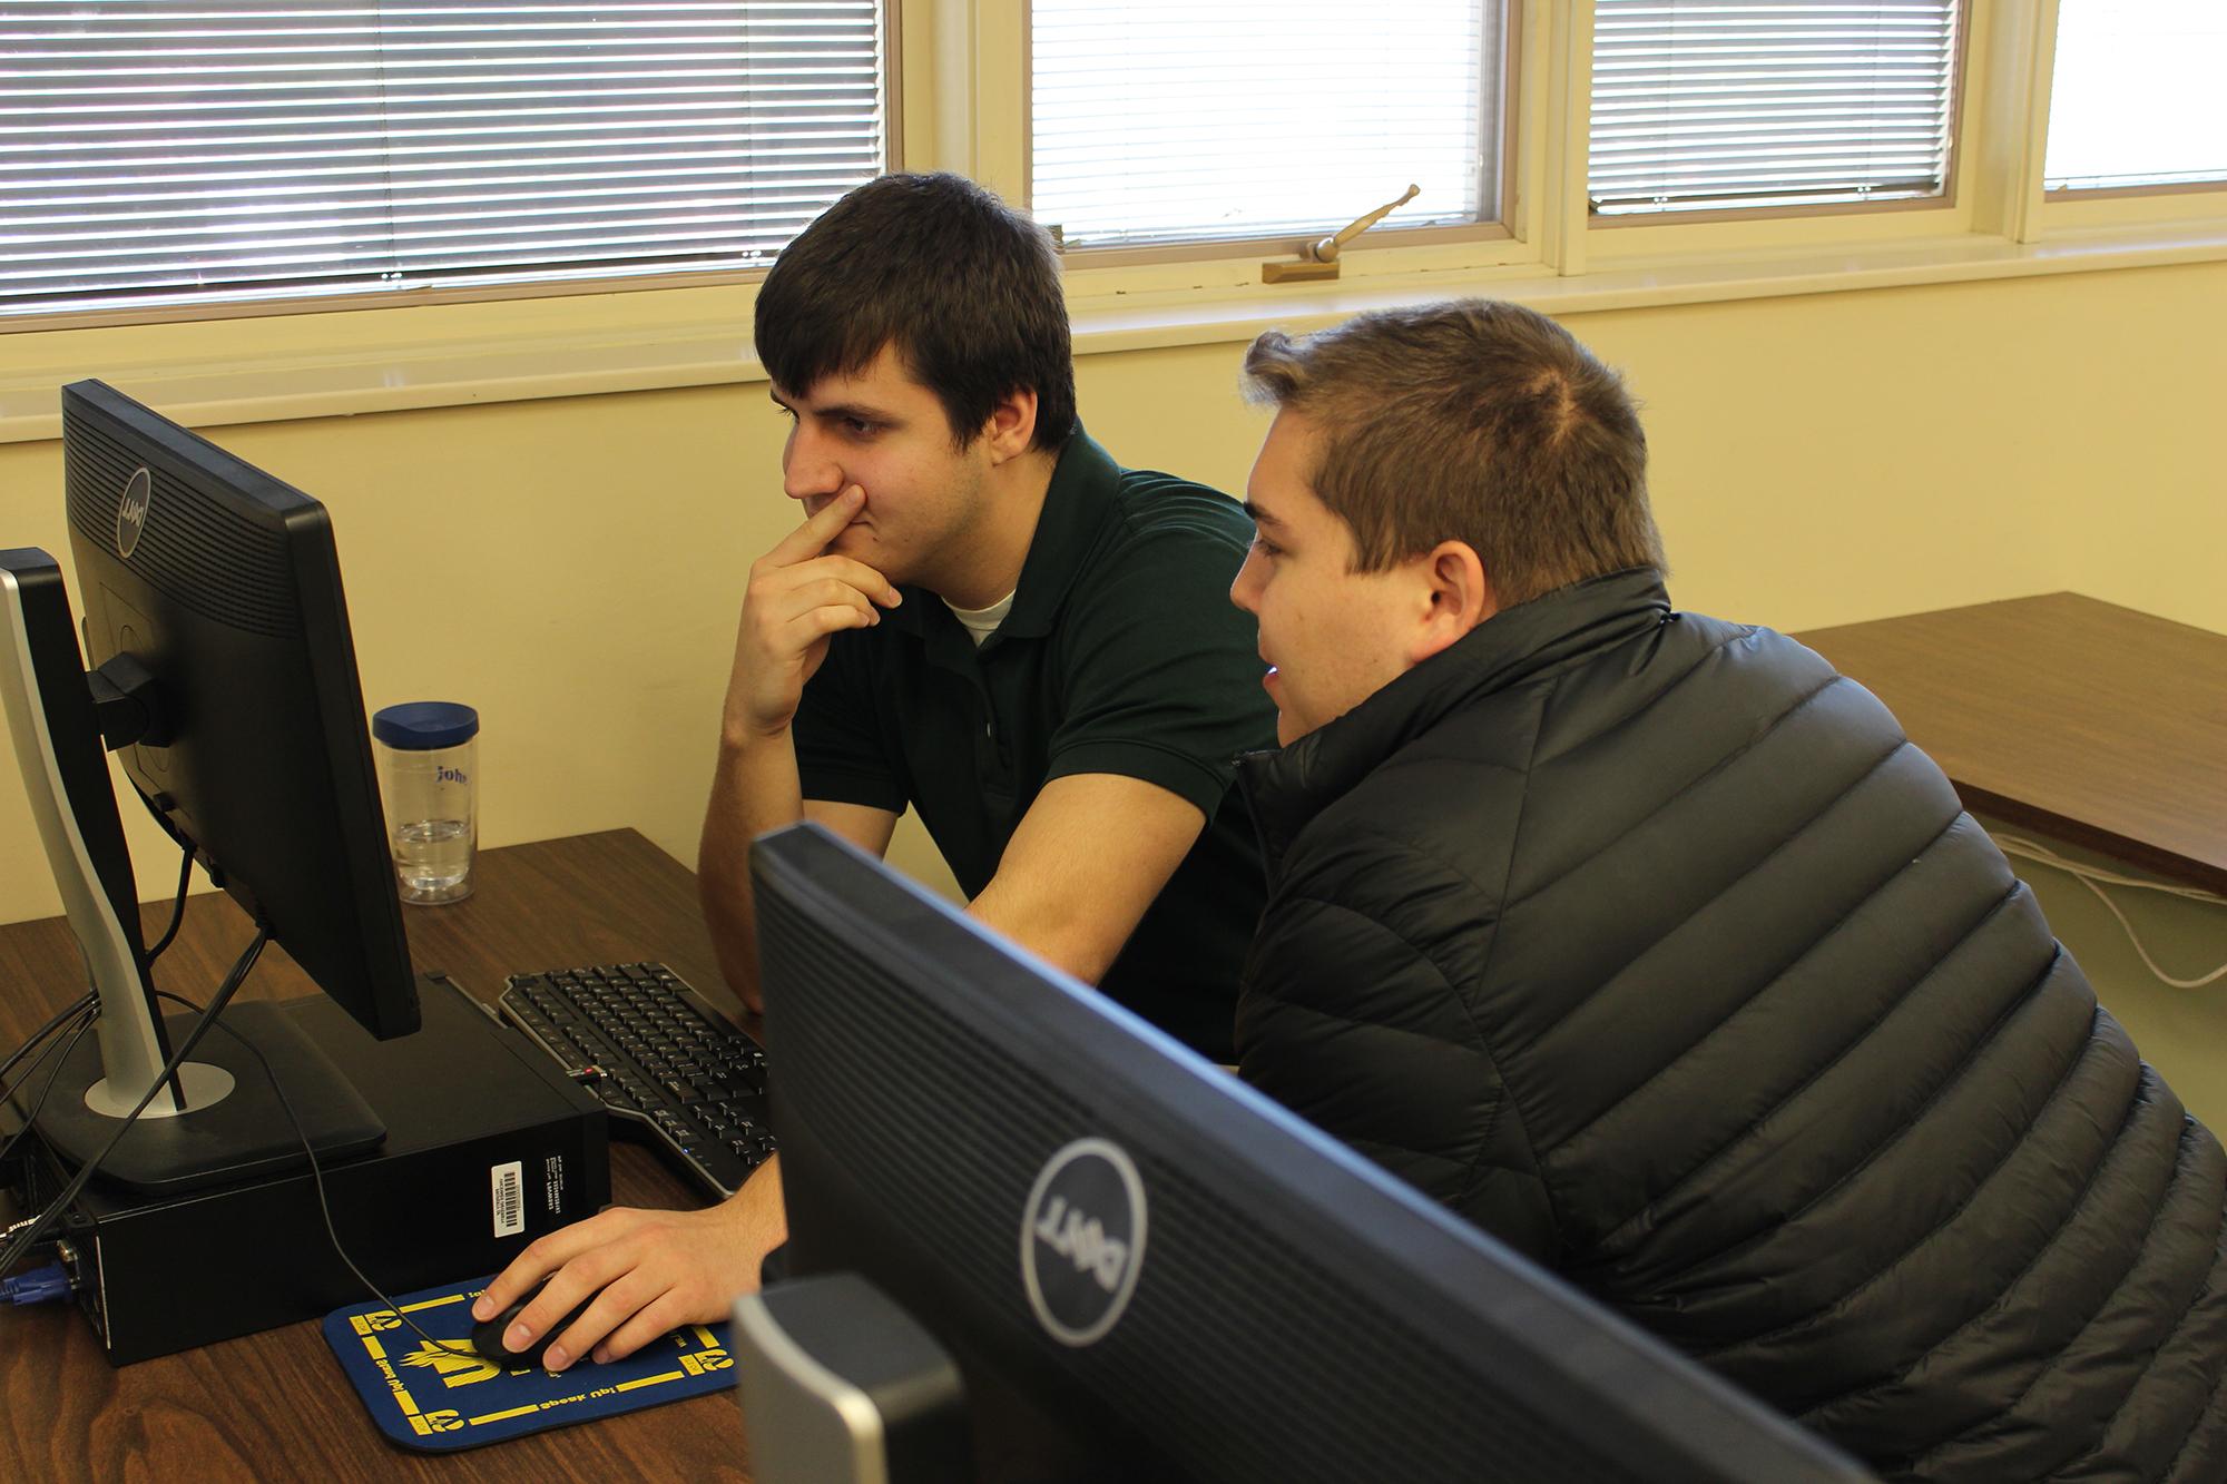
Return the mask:
<path id="1" fill-rule="evenodd" d="M 1076 354 L 1249 341 L 1316 330 L 1363 310 L 1459 294 L 1517 299 L 1546 314 L 1595 314 L 1971 283 L 2227 258 L 2227 221 L 2107 225 L 2042 243 L 1955 236 L 1835 250 L 1755 250 L 1599 263 L 1559 279 L 1537 263 L 1361 270 L 1341 283 L 1093 292 L 1071 305 Z M 343 417 L 543 397 L 588 397 L 764 379 L 750 350 L 748 287 L 661 290 L 421 310 L 361 310 L 200 325 L 0 334 L 0 443 L 60 437 L 58 385 L 98 374 L 196 426 Z M 105 336 L 105 339 L 94 339 Z M 200 354 L 189 348 L 200 343 Z M 149 354 L 160 345 L 163 354 Z"/>

